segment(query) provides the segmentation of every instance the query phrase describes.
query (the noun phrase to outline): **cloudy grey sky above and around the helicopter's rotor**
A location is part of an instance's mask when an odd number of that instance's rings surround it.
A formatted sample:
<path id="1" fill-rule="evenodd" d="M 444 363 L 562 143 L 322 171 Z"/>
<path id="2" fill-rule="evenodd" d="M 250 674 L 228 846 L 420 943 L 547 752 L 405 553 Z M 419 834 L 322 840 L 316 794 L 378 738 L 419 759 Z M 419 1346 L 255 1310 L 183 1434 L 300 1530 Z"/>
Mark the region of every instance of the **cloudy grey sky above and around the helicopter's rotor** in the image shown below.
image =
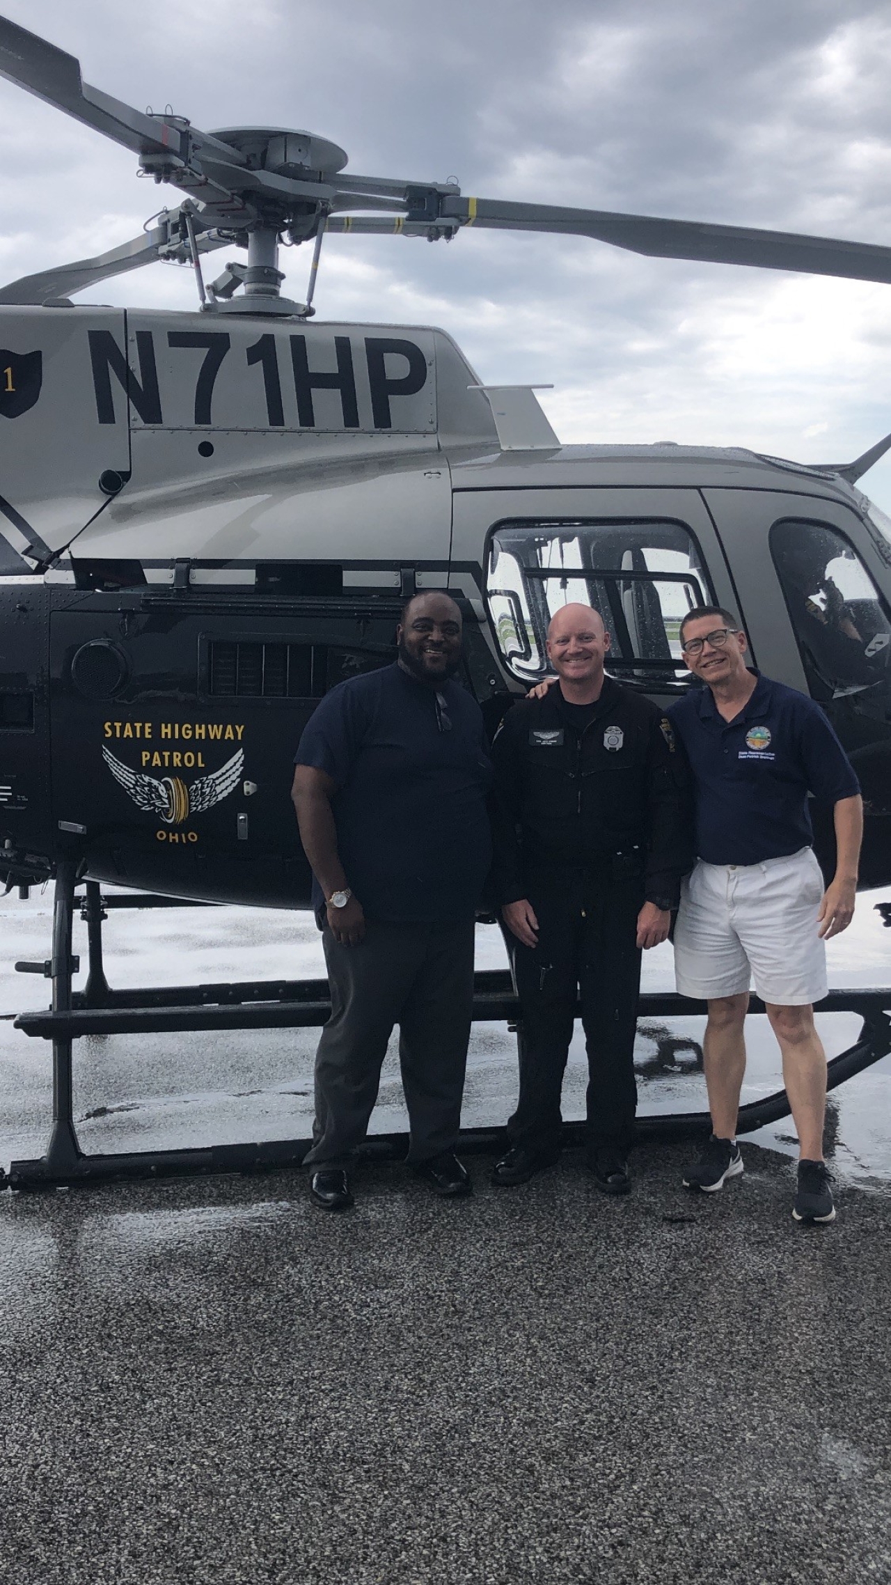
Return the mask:
<path id="1" fill-rule="evenodd" d="M 0 3 L 140 109 L 304 127 L 363 174 L 891 244 L 891 0 Z M 133 171 L 0 81 L 0 279 L 138 235 L 165 190 Z M 308 266 L 284 254 L 289 295 Z M 190 307 L 195 287 L 154 265 L 90 296 Z M 330 238 L 315 301 L 444 325 L 490 384 L 553 382 L 563 441 L 842 461 L 891 431 L 891 287 L 468 231 Z M 891 461 L 864 483 L 891 510 Z"/>

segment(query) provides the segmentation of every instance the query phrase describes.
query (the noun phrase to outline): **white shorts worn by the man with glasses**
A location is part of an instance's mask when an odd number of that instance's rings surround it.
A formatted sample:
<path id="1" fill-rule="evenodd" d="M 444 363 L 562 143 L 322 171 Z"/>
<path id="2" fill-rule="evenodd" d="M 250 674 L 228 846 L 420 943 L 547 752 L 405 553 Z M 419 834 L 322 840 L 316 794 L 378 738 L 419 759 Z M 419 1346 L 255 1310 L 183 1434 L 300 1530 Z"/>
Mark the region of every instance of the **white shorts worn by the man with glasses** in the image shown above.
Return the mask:
<path id="1" fill-rule="evenodd" d="M 682 995 L 750 989 L 777 1006 L 820 1002 L 826 948 L 816 934 L 823 873 L 813 848 L 764 864 L 706 864 L 682 888 L 674 968 Z"/>

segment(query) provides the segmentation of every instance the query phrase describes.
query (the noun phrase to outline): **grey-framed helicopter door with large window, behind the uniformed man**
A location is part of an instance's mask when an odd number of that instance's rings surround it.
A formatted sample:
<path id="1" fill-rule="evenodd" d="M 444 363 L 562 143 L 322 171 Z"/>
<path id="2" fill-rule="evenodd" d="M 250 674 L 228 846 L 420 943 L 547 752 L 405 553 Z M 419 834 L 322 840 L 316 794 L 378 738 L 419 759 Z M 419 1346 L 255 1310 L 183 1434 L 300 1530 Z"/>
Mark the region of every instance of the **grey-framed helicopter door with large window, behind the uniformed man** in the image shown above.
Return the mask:
<path id="1" fill-rule="evenodd" d="M 547 670 L 553 612 L 582 601 L 604 617 L 609 670 L 671 697 L 690 682 L 683 613 L 734 598 L 696 490 L 458 488 L 453 521 L 452 582 L 468 586 L 469 553 L 484 545 L 485 574 L 477 561 L 476 579 L 501 659 L 526 685 Z"/>

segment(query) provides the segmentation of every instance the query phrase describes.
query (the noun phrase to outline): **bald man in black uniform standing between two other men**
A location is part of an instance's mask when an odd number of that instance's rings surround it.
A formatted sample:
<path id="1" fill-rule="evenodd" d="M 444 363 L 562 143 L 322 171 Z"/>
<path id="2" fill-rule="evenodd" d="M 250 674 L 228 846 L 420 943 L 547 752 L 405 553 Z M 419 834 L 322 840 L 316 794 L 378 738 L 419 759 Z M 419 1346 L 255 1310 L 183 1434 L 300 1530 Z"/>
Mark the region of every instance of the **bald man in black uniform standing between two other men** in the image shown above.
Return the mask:
<path id="1" fill-rule="evenodd" d="M 580 989 L 588 1167 L 629 1189 L 641 951 L 664 941 L 691 869 L 686 764 L 656 705 L 604 675 L 590 605 L 549 628 L 558 686 L 507 712 L 495 739 L 495 875 L 522 1006 L 520 1100 L 495 1184 L 560 1154 L 560 1090 Z"/>

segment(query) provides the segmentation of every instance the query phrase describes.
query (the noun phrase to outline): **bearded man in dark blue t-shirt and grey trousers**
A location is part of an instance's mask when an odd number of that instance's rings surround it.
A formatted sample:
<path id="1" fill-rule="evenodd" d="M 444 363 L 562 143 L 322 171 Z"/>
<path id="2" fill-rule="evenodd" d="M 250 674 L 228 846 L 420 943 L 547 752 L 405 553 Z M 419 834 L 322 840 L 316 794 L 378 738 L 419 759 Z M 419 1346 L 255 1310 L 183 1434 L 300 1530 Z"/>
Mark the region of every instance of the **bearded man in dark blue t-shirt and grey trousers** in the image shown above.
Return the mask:
<path id="1" fill-rule="evenodd" d="M 314 873 L 331 1018 L 315 1054 L 311 1194 L 352 1205 L 387 1041 L 400 1025 L 407 1160 L 439 1195 L 471 1190 L 455 1155 L 474 991 L 474 910 L 491 850 L 479 705 L 457 683 L 461 613 L 415 594 L 398 661 L 339 683 L 300 740 L 292 797 Z"/>

